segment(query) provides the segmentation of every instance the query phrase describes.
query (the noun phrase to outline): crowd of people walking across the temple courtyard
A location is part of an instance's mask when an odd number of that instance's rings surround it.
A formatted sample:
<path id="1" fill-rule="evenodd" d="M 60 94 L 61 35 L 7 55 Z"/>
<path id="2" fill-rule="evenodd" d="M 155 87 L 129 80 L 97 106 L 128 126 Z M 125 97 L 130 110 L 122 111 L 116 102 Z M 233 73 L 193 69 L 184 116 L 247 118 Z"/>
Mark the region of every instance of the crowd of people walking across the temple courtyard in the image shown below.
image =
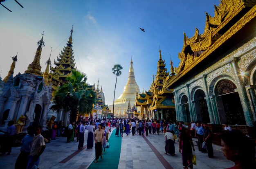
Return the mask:
<path id="1" fill-rule="evenodd" d="M 0 131 L 6 134 L 6 145 L 1 146 L 1 155 L 9 155 L 11 153 L 11 142 L 13 141 L 16 128 L 13 126 L 14 121 L 9 121 L 7 131 Z M 233 131 L 232 128 L 225 123 L 224 131 L 220 135 L 221 146 L 224 156 L 235 163 L 234 167 L 229 169 L 245 169 L 255 167 L 255 149 L 251 140 L 242 132 Z M 193 151 L 195 147 L 192 138 L 198 139 L 198 151 L 208 153 L 209 158 L 213 158 L 213 136 L 211 129 L 207 123 L 200 121 L 191 122 L 190 132 L 188 126 L 183 121 L 173 122 L 157 119 L 92 119 L 87 123 L 85 121 L 71 121 L 65 127 L 62 122 L 55 122 L 51 130 L 51 138 L 56 139 L 56 136 L 66 136 L 67 143 L 76 140 L 78 149 L 84 147 L 85 130 L 88 130 L 87 149 L 95 148 L 95 161 L 102 158 L 103 152 L 109 147 L 108 134 L 111 132 L 111 127 L 116 128 L 115 136 L 148 136 L 149 134 L 164 133 L 165 153 L 175 156 L 175 140 L 178 139 L 179 152 L 182 154 L 182 164 L 184 169 L 193 169 Z M 38 166 L 40 155 L 45 149 L 45 138 L 40 134 L 42 127 L 29 126 L 27 127 L 27 135 L 22 139 L 20 155 L 18 156 L 15 168 L 31 169 Z M 8 144 L 9 143 L 9 144 Z"/>

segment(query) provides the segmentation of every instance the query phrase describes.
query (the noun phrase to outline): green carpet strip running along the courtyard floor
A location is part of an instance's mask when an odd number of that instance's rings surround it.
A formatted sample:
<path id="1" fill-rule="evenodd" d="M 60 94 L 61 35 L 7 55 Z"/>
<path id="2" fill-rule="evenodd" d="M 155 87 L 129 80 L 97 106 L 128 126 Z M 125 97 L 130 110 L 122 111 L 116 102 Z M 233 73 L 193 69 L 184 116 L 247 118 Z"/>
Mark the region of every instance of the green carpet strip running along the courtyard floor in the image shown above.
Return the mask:
<path id="1" fill-rule="evenodd" d="M 110 138 L 108 139 L 109 148 L 103 152 L 102 159 L 99 158 L 97 163 L 92 162 L 88 169 L 117 169 L 119 164 L 119 158 L 121 153 L 122 138 L 115 136 L 116 129 L 112 131 Z M 95 150 L 94 150 L 95 151 Z"/>

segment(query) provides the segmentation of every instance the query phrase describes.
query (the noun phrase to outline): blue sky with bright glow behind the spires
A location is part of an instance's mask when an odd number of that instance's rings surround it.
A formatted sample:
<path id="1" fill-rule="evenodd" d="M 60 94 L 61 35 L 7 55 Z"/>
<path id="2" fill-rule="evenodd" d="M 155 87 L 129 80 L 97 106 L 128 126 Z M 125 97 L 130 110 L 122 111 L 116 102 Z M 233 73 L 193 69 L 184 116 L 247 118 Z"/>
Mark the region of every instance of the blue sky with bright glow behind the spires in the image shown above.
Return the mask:
<path id="1" fill-rule="evenodd" d="M 121 64 L 116 98 L 128 79 L 132 57 L 137 84 L 148 90 L 152 74 L 157 71 L 159 45 L 166 68 L 170 71 L 170 54 L 174 66 L 183 46 L 183 32 L 188 37 L 204 32 L 205 11 L 214 15 L 217 0 L 13 0 L 0 6 L 0 72 L 4 78 L 11 57 L 18 52 L 14 74 L 23 73 L 33 61 L 36 43 L 45 31 L 41 55 L 42 71 L 53 48 L 52 62 L 66 46 L 74 24 L 73 49 L 76 66 L 88 75 L 90 84 L 99 79 L 106 104 L 112 104 L 115 75 L 112 66 Z M 139 27 L 145 29 L 145 33 Z M 64 42 L 63 42 L 64 41 Z"/>

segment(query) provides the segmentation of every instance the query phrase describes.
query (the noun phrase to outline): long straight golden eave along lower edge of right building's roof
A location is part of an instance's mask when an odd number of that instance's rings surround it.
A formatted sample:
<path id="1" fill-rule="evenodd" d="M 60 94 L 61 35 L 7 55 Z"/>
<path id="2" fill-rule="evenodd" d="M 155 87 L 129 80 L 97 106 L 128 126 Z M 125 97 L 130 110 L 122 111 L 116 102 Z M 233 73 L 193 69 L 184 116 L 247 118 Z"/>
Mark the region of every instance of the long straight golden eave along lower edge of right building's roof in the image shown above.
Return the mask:
<path id="1" fill-rule="evenodd" d="M 235 14 L 234 14 L 235 15 Z M 209 48 L 207 48 L 200 57 L 195 59 L 190 66 L 187 66 L 186 69 L 182 70 L 176 78 L 172 79 L 166 85 L 166 88 L 169 88 L 176 81 L 178 81 L 182 76 L 192 70 L 198 63 L 200 63 L 203 59 L 208 57 L 214 50 L 216 50 L 221 44 L 226 42 L 230 37 L 232 37 L 235 33 L 237 33 L 245 24 L 247 24 L 250 20 L 252 20 L 256 16 L 256 5 L 252 7 L 238 22 L 236 22 L 229 30 L 227 30 L 215 43 L 213 43 Z M 224 22 L 230 21 L 232 18 L 228 18 Z M 218 29 L 218 28 L 217 28 Z"/>

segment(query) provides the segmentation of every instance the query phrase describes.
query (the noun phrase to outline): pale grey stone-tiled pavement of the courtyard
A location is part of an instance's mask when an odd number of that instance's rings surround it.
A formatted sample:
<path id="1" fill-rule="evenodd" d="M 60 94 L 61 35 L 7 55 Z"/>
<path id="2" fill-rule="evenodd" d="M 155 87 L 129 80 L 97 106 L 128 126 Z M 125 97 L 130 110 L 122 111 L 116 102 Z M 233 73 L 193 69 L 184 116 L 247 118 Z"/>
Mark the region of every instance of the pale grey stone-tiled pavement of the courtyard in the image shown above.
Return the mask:
<path id="1" fill-rule="evenodd" d="M 112 133 L 111 133 L 112 134 Z M 87 143 L 88 131 L 85 132 L 84 145 Z M 113 135 L 114 136 L 114 135 Z M 128 137 L 124 133 L 121 145 L 121 155 L 119 159 L 119 169 L 164 169 L 164 165 L 152 151 L 147 139 L 157 149 L 160 158 L 164 158 L 174 169 L 183 169 L 182 157 L 178 152 L 178 143 L 175 143 L 176 156 L 166 156 L 164 154 L 164 134 L 150 135 L 148 137 L 140 137 L 139 135 Z M 46 144 L 45 152 L 40 156 L 40 169 L 86 169 L 94 160 L 95 150 L 83 149 L 79 150 L 73 158 L 65 163 L 60 163 L 63 159 L 72 155 L 77 151 L 78 143 L 76 141 L 66 143 L 65 137 L 57 137 L 51 143 Z M 197 166 L 194 169 L 223 169 L 233 166 L 222 154 L 221 147 L 213 145 L 214 158 L 208 158 L 207 154 L 200 153 L 198 147 L 195 146 L 195 154 L 197 156 Z M 106 150 L 107 151 L 107 150 Z M 13 147 L 11 155 L 0 156 L 1 169 L 13 169 L 15 161 L 20 153 L 20 147 Z M 104 154 L 103 154 L 104 157 Z M 163 160 L 163 159 L 162 159 Z"/>

